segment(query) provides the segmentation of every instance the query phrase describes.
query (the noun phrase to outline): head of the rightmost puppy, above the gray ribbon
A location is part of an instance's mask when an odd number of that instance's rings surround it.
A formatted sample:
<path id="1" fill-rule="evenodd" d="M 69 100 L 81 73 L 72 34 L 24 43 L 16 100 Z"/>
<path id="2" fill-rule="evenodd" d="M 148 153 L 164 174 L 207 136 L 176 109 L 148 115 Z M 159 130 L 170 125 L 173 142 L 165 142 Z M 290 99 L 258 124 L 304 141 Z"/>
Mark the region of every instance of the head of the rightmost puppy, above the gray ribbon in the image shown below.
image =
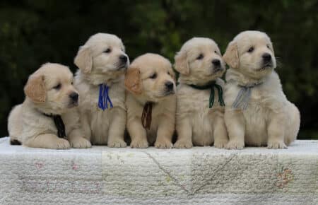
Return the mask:
<path id="1" fill-rule="evenodd" d="M 238 34 L 228 45 L 223 59 L 233 69 L 252 78 L 262 78 L 276 68 L 269 36 L 254 30 Z"/>

